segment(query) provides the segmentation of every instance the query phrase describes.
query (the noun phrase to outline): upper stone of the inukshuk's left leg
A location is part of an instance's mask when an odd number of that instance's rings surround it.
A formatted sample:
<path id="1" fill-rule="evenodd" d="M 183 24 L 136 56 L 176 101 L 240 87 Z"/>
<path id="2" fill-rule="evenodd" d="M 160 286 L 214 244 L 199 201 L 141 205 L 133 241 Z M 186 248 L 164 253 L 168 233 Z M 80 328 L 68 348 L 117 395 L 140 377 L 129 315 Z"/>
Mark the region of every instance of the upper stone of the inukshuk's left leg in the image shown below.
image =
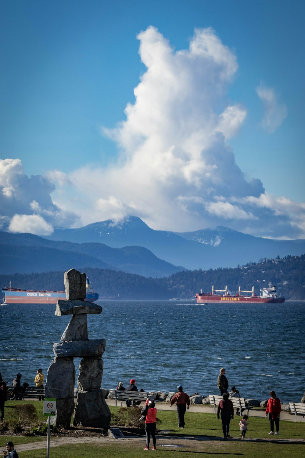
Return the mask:
<path id="1" fill-rule="evenodd" d="M 73 358 L 53 358 L 44 387 L 46 398 L 73 398 L 75 367 Z"/>

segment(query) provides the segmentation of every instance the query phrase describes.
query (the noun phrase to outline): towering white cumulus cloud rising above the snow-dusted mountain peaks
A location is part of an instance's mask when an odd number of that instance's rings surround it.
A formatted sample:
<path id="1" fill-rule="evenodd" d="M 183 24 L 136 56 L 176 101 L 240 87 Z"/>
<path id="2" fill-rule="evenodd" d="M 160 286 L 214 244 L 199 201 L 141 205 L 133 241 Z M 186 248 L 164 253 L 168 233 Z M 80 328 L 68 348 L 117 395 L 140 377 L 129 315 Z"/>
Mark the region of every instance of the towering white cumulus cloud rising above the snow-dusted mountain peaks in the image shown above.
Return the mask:
<path id="1" fill-rule="evenodd" d="M 102 130 L 120 148 L 119 165 L 70 177 L 96 196 L 91 214 L 83 205 L 86 221 L 133 214 L 155 229 L 223 224 L 271 237 L 304 234 L 289 213 L 277 213 L 278 202 L 261 205 L 262 182 L 245 180 L 235 163 L 228 142 L 246 108 L 227 100 L 238 69 L 234 52 L 211 28 L 196 30 L 189 49 L 179 51 L 155 27 L 137 38 L 146 71 L 135 102 L 126 106 L 126 120 Z"/>

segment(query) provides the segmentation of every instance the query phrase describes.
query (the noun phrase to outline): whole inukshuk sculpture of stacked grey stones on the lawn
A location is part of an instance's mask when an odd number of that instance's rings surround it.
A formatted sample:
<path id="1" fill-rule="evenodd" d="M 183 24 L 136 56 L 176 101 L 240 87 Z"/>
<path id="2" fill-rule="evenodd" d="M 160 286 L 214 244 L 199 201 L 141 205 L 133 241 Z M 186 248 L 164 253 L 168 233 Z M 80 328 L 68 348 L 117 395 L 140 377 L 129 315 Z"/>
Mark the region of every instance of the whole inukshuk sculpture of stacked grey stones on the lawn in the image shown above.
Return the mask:
<path id="1" fill-rule="evenodd" d="M 72 315 L 60 342 L 53 345 L 55 358 L 48 368 L 45 396 L 56 398 L 53 425 L 73 425 L 109 428 L 110 410 L 101 390 L 106 340 L 89 340 L 87 314 L 101 313 L 100 305 L 85 302 L 86 274 L 75 269 L 64 273 L 67 300 L 58 300 L 55 315 Z M 77 380 L 79 391 L 74 403 L 75 367 L 73 358 L 82 357 Z"/>

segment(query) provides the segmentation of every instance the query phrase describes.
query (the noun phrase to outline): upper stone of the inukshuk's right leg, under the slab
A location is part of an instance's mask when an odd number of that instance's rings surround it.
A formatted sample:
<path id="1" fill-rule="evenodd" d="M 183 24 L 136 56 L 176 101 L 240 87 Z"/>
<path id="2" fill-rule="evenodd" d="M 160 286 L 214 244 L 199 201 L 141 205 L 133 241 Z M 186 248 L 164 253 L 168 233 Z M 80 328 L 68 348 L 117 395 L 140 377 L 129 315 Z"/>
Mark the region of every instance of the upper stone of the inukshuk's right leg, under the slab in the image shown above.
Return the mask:
<path id="1" fill-rule="evenodd" d="M 98 390 L 101 387 L 104 361 L 98 356 L 87 356 L 80 361 L 77 386 L 81 391 Z"/>

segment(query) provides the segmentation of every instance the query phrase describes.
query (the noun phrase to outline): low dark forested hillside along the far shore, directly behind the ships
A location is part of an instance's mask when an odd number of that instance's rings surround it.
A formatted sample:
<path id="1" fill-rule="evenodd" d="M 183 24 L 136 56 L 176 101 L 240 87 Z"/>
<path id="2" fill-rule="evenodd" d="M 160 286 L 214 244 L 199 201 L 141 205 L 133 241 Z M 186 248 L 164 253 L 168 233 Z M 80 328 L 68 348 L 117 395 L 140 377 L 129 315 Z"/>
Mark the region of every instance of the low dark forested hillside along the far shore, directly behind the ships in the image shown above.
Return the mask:
<path id="1" fill-rule="evenodd" d="M 241 286 L 249 290 L 252 286 L 258 294 L 259 289 L 276 285 L 278 295 L 286 300 L 305 300 L 305 255 L 287 256 L 284 259 L 261 260 L 246 266 L 219 268 L 215 270 L 182 271 L 163 278 L 145 278 L 136 274 L 116 272 L 109 269 L 87 268 L 90 278 L 100 298 L 119 297 L 121 299 L 168 300 L 192 299 L 203 289 L 210 292 L 212 285 L 216 289 L 228 289 L 232 293 Z M 0 285 L 21 289 L 64 290 L 64 272 L 0 275 Z"/>

